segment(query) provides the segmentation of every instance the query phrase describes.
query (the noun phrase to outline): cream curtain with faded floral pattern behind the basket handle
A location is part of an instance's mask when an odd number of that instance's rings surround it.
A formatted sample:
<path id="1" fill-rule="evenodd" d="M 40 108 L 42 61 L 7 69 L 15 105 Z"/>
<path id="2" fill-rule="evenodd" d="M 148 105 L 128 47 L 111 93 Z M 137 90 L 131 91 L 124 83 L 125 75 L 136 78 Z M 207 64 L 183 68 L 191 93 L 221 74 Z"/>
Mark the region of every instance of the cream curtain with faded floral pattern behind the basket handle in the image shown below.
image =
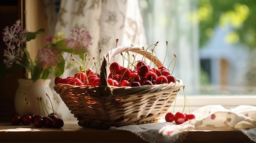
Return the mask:
<path id="1" fill-rule="evenodd" d="M 118 45 L 146 46 L 137 0 L 45 0 L 45 10 L 52 35 L 64 31 L 67 37 L 76 27 L 90 32 L 93 44 L 88 49 L 88 57 L 91 59 L 98 59 L 100 48 L 101 55 L 115 48 L 116 39 L 119 39 Z M 93 62 L 88 65 L 92 66 Z M 55 96 L 59 103 L 56 111 L 63 119 L 73 119 L 60 97 Z"/>

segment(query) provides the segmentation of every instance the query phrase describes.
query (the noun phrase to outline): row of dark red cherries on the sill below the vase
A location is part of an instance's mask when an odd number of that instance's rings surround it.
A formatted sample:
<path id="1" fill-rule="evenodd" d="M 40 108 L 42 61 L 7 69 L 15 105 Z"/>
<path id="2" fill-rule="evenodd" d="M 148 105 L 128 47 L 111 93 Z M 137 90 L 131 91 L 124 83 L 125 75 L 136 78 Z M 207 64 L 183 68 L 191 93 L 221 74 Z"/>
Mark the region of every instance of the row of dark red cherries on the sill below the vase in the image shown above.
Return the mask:
<path id="1" fill-rule="evenodd" d="M 40 115 L 34 114 L 25 114 L 20 115 L 19 113 L 15 112 L 11 116 L 11 124 L 12 125 L 31 125 L 34 124 L 36 128 L 62 128 L 64 122 L 61 118 L 58 117 L 57 114 L 49 114 L 47 117 L 42 117 Z"/>

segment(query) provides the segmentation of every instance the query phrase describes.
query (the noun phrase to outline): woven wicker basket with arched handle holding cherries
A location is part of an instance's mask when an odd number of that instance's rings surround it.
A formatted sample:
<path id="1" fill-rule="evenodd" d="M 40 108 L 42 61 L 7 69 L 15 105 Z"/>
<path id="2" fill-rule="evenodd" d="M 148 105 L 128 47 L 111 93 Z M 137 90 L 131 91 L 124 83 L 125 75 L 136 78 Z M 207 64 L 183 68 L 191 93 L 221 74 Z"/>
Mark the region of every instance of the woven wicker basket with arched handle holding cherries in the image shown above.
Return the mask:
<path id="1" fill-rule="evenodd" d="M 66 106 L 80 126 L 107 130 L 110 126 L 155 123 L 167 112 L 177 93 L 182 88 L 182 80 L 176 83 L 144 85 L 138 87 L 115 87 L 107 82 L 107 69 L 115 55 L 131 51 L 144 54 L 142 48 L 118 46 L 104 55 L 100 73 L 100 86 L 71 86 L 58 84 L 54 90 L 61 96 Z M 151 58 L 146 52 L 145 57 Z M 153 61 L 162 63 L 153 56 Z"/>

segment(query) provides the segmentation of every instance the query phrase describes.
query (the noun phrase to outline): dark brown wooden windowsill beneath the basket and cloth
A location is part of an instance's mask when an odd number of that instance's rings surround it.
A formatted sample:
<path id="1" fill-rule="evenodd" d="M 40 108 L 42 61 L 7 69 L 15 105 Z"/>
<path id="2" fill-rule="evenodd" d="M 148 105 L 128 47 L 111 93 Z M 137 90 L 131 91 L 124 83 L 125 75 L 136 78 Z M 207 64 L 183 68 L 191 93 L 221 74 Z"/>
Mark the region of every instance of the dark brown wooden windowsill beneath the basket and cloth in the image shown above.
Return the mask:
<path id="1" fill-rule="evenodd" d="M 13 126 L 0 122 L 0 142 L 11 143 L 146 143 L 132 132 L 107 131 L 80 127 L 77 121 L 64 121 L 61 129 Z M 245 134 L 233 129 L 197 128 L 188 133 L 184 143 L 254 143 Z"/>

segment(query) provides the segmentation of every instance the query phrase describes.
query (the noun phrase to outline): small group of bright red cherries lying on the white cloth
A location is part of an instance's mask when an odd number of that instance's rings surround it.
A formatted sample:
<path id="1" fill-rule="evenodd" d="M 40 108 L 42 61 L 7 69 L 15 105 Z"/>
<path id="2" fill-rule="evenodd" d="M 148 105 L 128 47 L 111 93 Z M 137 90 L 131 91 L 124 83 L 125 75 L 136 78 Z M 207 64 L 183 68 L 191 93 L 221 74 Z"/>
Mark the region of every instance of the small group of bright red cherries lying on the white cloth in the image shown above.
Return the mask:
<path id="1" fill-rule="evenodd" d="M 177 123 L 177 124 L 182 124 L 185 121 L 189 121 L 192 119 L 195 119 L 194 114 L 186 114 L 186 113 L 182 113 L 182 112 L 176 112 L 175 114 L 172 112 L 167 112 L 165 115 L 166 122 L 175 121 L 175 123 Z"/>

